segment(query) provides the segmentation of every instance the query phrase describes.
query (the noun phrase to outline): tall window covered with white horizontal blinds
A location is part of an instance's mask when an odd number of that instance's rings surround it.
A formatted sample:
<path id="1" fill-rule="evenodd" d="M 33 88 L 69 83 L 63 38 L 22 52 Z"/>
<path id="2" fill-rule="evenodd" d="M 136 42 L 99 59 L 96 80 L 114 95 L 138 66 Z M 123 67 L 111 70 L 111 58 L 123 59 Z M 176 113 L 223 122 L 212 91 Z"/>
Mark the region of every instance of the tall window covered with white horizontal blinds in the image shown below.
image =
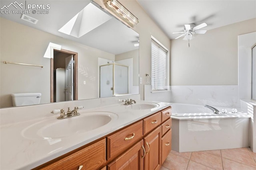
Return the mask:
<path id="1" fill-rule="evenodd" d="M 167 90 L 167 54 L 164 47 L 151 40 L 152 91 Z"/>

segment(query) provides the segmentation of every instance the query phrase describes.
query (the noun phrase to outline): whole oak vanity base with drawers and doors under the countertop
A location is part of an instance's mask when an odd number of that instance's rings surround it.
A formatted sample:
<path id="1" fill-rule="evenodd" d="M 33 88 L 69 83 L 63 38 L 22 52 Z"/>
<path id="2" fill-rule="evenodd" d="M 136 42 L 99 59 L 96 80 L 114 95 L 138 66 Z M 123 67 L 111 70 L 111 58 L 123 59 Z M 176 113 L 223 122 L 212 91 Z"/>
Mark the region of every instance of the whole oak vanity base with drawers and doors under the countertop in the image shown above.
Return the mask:
<path id="1" fill-rule="evenodd" d="M 159 170 L 172 149 L 171 107 L 34 168 Z"/>

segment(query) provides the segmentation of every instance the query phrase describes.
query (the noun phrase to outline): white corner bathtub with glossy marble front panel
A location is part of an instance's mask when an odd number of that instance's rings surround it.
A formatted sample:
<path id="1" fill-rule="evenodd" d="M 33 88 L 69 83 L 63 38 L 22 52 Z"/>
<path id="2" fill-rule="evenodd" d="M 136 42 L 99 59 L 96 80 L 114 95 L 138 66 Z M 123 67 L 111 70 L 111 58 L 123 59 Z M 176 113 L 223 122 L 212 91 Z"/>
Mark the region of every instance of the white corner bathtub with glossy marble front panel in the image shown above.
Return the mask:
<path id="1" fill-rule="evenodd" d="M 172 150 L 192 152 L 249 147 L 250 115 L 234 108 L 215 107 L 214 114 L 203 105 L 172 105 Z"/>

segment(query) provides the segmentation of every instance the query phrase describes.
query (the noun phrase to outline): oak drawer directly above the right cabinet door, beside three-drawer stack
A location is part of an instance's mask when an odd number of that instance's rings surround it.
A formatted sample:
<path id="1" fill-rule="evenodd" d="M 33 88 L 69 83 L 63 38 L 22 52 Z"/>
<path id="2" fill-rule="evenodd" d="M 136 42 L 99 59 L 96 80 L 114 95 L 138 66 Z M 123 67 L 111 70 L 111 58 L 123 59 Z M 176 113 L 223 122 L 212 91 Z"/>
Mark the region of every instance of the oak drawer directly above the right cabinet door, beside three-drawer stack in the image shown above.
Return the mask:
<path id="1" fill-rule="evenodd" d="M 161 124 L 161 112 L 158 112 L 150 117 L 147 117 L 143 119 L 143 121 L 143 134 L 146 134 Z"/>

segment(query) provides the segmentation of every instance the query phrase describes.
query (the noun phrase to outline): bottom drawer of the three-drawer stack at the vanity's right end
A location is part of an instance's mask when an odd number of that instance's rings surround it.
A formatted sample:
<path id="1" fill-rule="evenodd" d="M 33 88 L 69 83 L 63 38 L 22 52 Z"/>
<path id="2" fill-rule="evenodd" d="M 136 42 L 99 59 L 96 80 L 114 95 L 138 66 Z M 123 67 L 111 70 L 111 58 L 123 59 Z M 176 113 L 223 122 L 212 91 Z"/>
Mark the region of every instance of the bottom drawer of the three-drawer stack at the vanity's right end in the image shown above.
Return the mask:
<path id="1" fill-rule="evenodd" d="M 172 150 L 172 129 L 162 137 L 162 164 Z"/>

